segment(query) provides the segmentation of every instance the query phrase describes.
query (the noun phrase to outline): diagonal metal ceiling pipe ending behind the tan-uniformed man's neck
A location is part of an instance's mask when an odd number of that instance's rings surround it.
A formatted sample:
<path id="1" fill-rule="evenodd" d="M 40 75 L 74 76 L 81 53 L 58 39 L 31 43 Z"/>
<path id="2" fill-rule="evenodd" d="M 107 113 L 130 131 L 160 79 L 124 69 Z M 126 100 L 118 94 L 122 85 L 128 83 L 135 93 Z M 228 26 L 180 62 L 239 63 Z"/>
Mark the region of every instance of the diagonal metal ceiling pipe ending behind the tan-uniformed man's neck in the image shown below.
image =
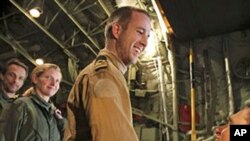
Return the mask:
<path id="1" fill-rule="evenodd" d="M 64 6 L 58 1 L 58 0 L 54 0 L 56 2 L 56 4 L 62 9 L 62 11 L 70 18 L 70 20 L 73 21 L 73 23 L 82 31 L 82 33 L 89 39 L 89 41 L 98 49 L 100 50 L 100 47 L 98 46 L 98 44 L 92 39 L 92 37 L 90 37 L 87 33 L 87 31 L 85 31 L 82 28 L 82 25 L 80 25 L 78 23 L 78 21 L 76 21 L 76 19 L 64 8 Z"/>

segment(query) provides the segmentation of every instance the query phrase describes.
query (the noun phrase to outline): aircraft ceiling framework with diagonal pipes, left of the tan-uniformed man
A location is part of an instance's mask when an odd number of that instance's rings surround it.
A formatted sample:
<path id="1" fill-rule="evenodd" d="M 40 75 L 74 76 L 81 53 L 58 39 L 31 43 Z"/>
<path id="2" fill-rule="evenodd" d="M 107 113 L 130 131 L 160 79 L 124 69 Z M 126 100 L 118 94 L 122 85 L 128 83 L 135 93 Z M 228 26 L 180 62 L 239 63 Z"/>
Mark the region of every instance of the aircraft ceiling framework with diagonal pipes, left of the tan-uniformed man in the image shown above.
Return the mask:
<path id="1" fill-rule="evenodd" d="M 124 5 L 145 8 L 156 18 L 149 0 L 2 0 L 0 60 L 16 57 L 30 70 L 37 58 L 58 64 L 63 72 L 61 91 L 68 94 L 78 72 L 104 47 L 110 13 Z M 32 17 L 31 8 L 38 8 L 40 17 Z M 27 82 L 22 89 L 29 86 Z"/>

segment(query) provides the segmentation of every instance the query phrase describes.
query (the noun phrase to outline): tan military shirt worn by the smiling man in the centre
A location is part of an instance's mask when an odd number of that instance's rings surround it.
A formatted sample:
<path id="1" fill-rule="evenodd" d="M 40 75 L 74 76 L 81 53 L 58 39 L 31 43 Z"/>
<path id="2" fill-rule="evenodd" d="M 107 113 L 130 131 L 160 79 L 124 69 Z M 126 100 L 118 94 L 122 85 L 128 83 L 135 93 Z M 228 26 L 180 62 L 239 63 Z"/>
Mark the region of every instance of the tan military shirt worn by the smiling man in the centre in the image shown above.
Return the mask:
<path id="1" fill-rule="evenodd" d="M 68 97 L 64 140 L 91 140 L 90 133 L 93 141 L 138 141 L 123 76 L 126 70 L 121 60 L 103 49 L 81 71 Z"/>

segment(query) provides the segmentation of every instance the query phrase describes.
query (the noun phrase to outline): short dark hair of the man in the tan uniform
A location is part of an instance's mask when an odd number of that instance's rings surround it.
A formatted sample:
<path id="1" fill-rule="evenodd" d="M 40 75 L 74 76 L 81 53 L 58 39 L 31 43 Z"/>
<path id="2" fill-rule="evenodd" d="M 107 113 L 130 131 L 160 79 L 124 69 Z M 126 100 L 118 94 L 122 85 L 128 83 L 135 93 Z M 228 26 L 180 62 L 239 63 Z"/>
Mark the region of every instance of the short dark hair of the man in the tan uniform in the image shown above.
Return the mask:
<path id="1" fill-rule="evenodd" d="M 144 13 L 145 15 L 147 15 L 150 18 L 149 13 L 144 9 L 140 9 L 140 8 L 132 7 L 132 6 L 120 7 L 118 9 L 116 9 L 110 15 L 110 17 L 106 23 L 105 31 L 104 31 L 105 38 L 107 39 L 107 38 L 113 37 L 111 29 L 112 29 L 113 23 L 115 23 L 115 22 L 120 23 L 123 28 L 126 28 L 128 22 L 130 21 L 130 19 L 132 17 L 133 12 Z"/>

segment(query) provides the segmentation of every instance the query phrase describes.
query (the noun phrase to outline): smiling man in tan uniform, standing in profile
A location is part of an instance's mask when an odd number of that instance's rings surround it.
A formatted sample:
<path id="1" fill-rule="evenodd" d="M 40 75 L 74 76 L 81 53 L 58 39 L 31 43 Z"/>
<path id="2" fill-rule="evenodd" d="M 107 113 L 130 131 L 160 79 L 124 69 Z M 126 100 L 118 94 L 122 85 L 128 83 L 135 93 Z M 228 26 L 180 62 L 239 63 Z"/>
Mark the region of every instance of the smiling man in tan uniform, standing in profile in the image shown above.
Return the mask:
<path id="1" fill-rule="evenodd" d="M 105 28 L 105 48 L 81 71 L 67 102 L 67 141 L 137 141 L 129 90 L 124 78 L 147 46 L 147 12 L 121 7 Z"/>

